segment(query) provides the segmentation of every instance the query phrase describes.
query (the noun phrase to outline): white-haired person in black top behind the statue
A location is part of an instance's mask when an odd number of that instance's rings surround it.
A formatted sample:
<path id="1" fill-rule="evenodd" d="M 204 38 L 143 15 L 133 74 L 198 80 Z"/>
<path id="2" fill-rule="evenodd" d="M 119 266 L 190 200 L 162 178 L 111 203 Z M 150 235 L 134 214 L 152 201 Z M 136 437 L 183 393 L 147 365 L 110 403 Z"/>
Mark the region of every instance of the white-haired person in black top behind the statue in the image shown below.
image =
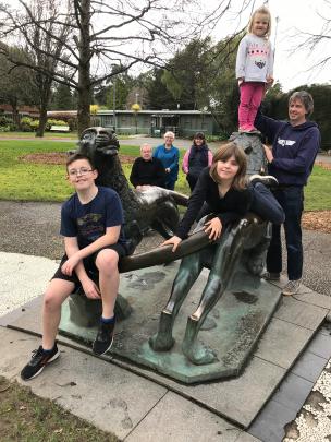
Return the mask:
<path id="1" fill-rule="evenodd" d="M 164 187 L 166 182 L 166 169 L 158 158 L 152 157 L 152 147 L 149 144 L 143 144 L 140 147 L 140 154 L 135 159 L 130 181 L 137 189 L 146 188 L 146 186 L 159 186 Z"/>

